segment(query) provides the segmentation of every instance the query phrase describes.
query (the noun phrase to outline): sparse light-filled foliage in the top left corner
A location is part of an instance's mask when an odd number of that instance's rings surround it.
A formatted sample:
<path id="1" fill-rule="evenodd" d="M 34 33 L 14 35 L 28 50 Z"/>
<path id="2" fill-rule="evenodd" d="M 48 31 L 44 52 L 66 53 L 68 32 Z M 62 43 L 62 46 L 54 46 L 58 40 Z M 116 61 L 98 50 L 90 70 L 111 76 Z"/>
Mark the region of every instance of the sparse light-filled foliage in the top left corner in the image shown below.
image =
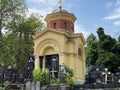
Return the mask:
<path id="1" fill-rule="evenodd" d="M 0 0 L 0 37 L 2 36 L 2 28 L 7 22 L 14 14 L 23 12 L 25 8 L 25 0 Z"/>

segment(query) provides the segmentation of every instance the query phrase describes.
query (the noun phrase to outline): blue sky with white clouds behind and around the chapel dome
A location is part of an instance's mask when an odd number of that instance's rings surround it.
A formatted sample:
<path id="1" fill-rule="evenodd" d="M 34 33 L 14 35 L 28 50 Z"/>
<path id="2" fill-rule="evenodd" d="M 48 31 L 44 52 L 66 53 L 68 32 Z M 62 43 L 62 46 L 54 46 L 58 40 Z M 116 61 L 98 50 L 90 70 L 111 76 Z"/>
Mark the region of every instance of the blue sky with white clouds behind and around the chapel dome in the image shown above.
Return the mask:
<path id="1" fill-rule="evenodd" d="M 39 13 L 44 19 L 58 9 L 58 0 L 27 0 L 27 6 L 28 15 Z M 114 38 L 120 35 L 120 0 L 62 0 L 62 9 L 76 16 L 75 33 L 85 38 L 91 33 L 97 37 L 99 27 Z"/>

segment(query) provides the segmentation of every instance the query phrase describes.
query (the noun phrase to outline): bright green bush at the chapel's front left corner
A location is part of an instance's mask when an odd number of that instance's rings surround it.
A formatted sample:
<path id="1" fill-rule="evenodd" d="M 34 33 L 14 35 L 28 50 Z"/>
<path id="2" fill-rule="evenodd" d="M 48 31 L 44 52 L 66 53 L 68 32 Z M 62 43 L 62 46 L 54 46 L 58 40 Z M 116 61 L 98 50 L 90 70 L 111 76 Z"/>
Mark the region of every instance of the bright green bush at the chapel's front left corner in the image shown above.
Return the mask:
<path id="1" fill-rule="evenodd" d="M 34 70 L 34 81 L 40 81 L 41 85 L 46 85 L 49 82 L 49 71 L 47 69 Z"/>

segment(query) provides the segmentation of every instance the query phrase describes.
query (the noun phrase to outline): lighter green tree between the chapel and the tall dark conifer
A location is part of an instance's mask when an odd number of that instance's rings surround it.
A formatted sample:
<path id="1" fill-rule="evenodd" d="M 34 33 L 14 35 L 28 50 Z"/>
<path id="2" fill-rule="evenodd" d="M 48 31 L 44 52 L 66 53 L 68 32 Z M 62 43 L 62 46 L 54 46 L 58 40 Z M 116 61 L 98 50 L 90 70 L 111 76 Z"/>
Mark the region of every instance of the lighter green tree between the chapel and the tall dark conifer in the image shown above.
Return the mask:
<path id="1" fill-rule="evenodd" d="M 86 60 L 87 64 L 94 65 L 98 59 L 98 41 L 94 34 L 90 34 L 87 38 Z"/>

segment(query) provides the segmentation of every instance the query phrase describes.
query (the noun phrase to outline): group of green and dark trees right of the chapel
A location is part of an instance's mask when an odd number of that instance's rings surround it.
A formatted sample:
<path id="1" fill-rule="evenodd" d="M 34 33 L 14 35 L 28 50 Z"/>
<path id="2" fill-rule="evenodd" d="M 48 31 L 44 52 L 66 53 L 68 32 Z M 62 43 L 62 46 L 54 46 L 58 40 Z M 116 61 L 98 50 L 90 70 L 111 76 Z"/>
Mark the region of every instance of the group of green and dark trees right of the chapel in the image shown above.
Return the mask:
<path id="1" fill-rule="evenodd" d="M 120 36 L 116 40 L 106 35 L 102 27 L 97 29 L 97 34 L 98 39 L 94 34 L 90 34 L 86 39 L 86 62 L 90 65 L 97 62 L 100 66 L 115 73 L 120 66 Z"/>

